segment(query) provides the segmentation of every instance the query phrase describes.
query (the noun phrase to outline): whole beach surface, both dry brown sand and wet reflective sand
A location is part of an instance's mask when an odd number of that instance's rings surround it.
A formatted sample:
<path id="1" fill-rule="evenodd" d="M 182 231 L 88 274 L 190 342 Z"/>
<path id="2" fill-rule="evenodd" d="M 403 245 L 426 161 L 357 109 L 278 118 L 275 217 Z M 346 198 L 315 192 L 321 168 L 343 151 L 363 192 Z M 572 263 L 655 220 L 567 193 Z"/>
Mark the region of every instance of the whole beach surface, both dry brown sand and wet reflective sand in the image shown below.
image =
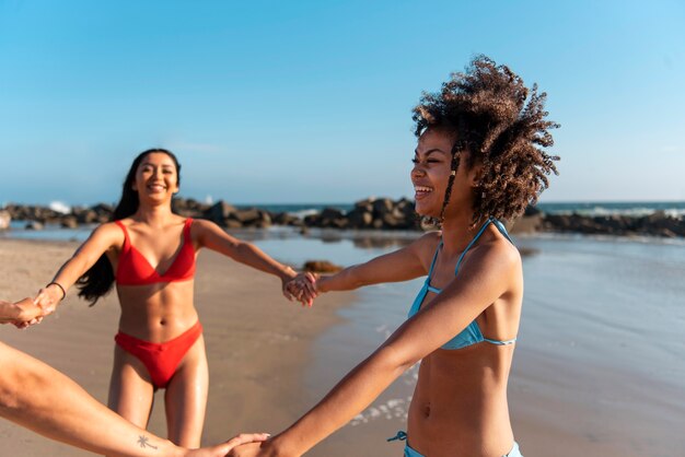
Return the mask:
<path id="1" fill-rule="evenodd" d="M 288 253 L 301 251 L 327 253 L 328 258 L 345 263 L 352 261 L 344 257 L 350 249 L 364 256 L 378 255 L 373 249 L 381 249 L 363 244 L 353 248 L 351 241 L 258 243 L 285 261 L 294 261 Z M 675 298 L 682 296 L 675 279 L 683 270 L 678 254 L 683 247 L 579 243 L 536 238 L 521 243 L 538 253 L 524 259 L 529 289 L 509 388 L 512 425 L 521 449 L 526 457 L 684 455 L 685 438 L 680 431 L 685 421 L 685 396 L 677 380 L 683 372 L 677 354 L 683 347 L 678 326 L 685 316 L 677 312 Z M 49 281 L 76 247 L 72 242 L 0 239 L 2 298 L 32 294 Z M 579 251 L 581 247 L 584 250 Z M 653 256 L 648 255 L 654 249 Z M 597 253 L 599 257 L 589 257 Z M 662 284 L 666 292 L 660 295 L 665 300 L 660 303 L 663 310 L 640 314 L 642 304 L 653 306 L 657 291 L 649 289 L 651 279 L 640 282 L 645 273 L 636 270 L 635 263 L 616 260 L 623 258 L 616 257 L 618 253 L 628 256 L 626 259 L 647 256 L 639 265 L 667 281 Z M 597 271 L 588 271 L 589 265 Z M 614 283 L 597 289 L 590 278 L 601 272 L 625 280 L 602 280 Z M 196 305 L 210 364 L 204 443 L 244 431 L 276 433 L 290 424 L 405 318 L 415 285 L 398 283 L 324 295 L 313 309 L 304 309 L 281 297 L 275 278 L 202 251 Z M 616 300 L 620 294 L 635 300 Z M 582 304 L 581 308 L 577 304 Z M 662 324 L 660 313 L 676 313 L 675 327 Z M 25 331 L 0 327 L 0 340 L 62 371 L 105 402 L 117 316 L 115 294 L 89 308 L 70 291 L 57 313 L 43 324 Z M 657 326 L 660 338 L 653 337 Z M 650 337 L 645 339 L 645 335 Z M 402 444 L 387 444 L 385 438 L 404 429 L 415 376 L 416 368 L 403 375 L 361 417 L 307 456 L 400 455 Z M 161 394 L 155 402 L 150 430 L 164 436 Z M 90 455 L 7 421 L 0 422 L 0 449 L 12 449 L 0 455 L 26 457 Z"/>

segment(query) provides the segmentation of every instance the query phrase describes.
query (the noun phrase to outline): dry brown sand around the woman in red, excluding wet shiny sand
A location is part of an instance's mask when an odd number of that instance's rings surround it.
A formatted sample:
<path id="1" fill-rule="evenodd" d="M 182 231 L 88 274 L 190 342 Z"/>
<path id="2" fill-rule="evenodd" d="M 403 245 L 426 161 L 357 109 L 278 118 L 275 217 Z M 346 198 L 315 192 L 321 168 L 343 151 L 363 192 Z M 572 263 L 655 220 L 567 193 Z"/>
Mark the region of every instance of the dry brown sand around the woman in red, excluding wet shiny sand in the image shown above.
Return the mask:
<path id="1" fill-rule="evenodd" d="M 0 291 L 5 300 L 32 294 L 66 260 L 74 243 L 0 241 Z M 337 307 L 353 294 L 324 296 L 315 309 L 286 301 L 278 280 L 201 251 L 196 277 L 198 307 L 210 366 L 204 442 L 217 443 L 248 430 L 279 431 L 311 399 L 301 388 L 312 339 L 335 323 Z M 94 307 L 70 291 L 57 312 L 24 331 L 0 328 L 0 340 L 66 373 L 106 402 L 117 329 L 116 294 Z M 152 432 L 165 436 L 163 397 L 155 396 Z M 8 421 L 0 422 L 0 449 L 11 455 L 91 455 Z M 21 450 L 20 450 L 21 449 Z M 0 452 L 4 454 L 4 450 Z"/>

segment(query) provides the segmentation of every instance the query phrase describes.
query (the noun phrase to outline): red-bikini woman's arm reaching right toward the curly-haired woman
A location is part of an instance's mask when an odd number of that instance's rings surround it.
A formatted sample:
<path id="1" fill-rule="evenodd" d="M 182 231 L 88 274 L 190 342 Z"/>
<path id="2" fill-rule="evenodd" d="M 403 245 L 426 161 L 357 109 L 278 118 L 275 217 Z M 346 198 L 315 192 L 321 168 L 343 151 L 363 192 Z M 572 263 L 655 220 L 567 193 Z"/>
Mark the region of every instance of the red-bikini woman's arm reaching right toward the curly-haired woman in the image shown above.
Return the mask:
<path id="1" fill-rule="evenodd" d="M 291 298 L 291 294 L 286 285 L 298 274 L 292 268 L 272 259 L 252 243 L 243 242 L 229 235 L 213 222 L 195 221 L 193 230 L 197 233 L 197 239 L 200 246 L 221 253 L 235 261 L 247 265 L 259 271 L 278 277 L 281 280 L 283 294 L 288 300 Z M 306 294 L 301 301 L 311 304 L 313 298 L 314 296 Z"/>

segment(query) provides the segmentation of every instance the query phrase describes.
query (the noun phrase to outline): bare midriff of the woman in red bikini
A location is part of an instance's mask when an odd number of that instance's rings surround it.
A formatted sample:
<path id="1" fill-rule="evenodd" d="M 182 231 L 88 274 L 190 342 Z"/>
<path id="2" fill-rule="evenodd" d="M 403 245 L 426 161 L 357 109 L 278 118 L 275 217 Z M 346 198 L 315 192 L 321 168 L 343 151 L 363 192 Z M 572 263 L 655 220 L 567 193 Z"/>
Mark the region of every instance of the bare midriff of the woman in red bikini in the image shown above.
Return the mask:
<path id="1" fill-rule="evenodd" d="M 121 305 L 119 330 L 161 343 L 188 330 L 198 320 L 193 305 L 194 280 L 144 285 L 117 285 Z"/>

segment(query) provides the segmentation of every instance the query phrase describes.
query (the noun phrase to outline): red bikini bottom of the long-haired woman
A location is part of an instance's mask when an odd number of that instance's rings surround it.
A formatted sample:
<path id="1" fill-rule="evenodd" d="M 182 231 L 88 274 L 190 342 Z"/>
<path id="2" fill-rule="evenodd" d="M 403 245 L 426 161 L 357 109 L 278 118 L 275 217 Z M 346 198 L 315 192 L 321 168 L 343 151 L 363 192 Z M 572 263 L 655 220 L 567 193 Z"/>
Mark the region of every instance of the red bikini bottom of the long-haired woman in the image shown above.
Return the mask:
<path id="1" fill-rule="evenodd" d="M 140 340 L 121 331 L 114 337 L 114 341 L 146 365 L 155 388 L 164 388 L 176 373 L 184 355 L 200 338 L 200 335 L 202 335 L 202 326 L 198 320 L 188 330 L 163 343 Z"/>

